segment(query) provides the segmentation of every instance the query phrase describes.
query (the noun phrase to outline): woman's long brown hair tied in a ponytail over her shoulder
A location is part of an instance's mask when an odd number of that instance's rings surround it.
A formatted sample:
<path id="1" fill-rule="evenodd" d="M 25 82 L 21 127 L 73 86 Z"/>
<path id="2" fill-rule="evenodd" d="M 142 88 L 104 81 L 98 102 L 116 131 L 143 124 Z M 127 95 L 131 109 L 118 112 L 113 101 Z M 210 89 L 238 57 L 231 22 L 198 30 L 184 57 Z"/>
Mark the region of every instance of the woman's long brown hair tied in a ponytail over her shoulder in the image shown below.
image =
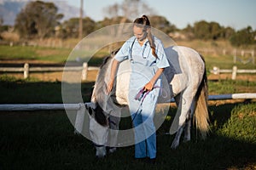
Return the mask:
<path id="1" fill-rule="evenodd" d="M 147 32 L 148 42 L 152 49 L 152 54 L 154 55 L 154 57 L 157 58 L 157 54 L 155 53 L 154 38 L 151 33 L 151 26 L 150 26 L 150 21 L 148 20 L 148 17 L 146 15 L 143 15 L 142 17 L 137 18 L 136 20 L 133 21 L 133 26 L 141 27 L 143 28 L 144 32 Z"/>

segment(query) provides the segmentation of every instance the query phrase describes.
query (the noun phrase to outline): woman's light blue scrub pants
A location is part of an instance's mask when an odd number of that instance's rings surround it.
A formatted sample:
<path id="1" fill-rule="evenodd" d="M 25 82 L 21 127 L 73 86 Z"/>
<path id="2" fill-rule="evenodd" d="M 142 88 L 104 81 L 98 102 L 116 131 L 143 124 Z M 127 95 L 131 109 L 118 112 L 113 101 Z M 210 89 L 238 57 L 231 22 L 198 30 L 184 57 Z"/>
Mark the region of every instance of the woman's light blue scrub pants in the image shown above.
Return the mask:
<path id="1" fill-rule="evenodd" d="M 135 158 L 156 157 L 156 135 L 154 127 L 154 110 L 159 89 L 154 88 L 141 103 L 134 99 L 136 94 L 130 93 L 131 120 L 134 126 Z"/>

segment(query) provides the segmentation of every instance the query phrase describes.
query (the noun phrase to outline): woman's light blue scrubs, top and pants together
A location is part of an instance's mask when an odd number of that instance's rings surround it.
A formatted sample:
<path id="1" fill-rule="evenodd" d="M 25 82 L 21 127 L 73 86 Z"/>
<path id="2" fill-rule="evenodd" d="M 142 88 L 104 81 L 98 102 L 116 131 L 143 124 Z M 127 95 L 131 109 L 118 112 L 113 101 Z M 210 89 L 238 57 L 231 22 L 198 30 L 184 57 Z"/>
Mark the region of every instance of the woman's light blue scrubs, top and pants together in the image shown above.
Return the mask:
<path id="1" fill-rule="evenodd" d="M 152 54 L 148 39 L 141 45 L 136 37 L 127 40 L 114 57 L 119 62 L 125 59 L 131 60 L 129 108 L 135 127 L 136 158 L 148 156 L 150 159 L 154 159 L 156 157 L 154 110 L 160 94 L 161 77 L 154 83 L 154 88 L 146 95 L 144 94 L 144 99 L 135 98 L 159 68 L 169 66 L 162 42 L 157 37 L 153 38 L 157 58 Z"/>

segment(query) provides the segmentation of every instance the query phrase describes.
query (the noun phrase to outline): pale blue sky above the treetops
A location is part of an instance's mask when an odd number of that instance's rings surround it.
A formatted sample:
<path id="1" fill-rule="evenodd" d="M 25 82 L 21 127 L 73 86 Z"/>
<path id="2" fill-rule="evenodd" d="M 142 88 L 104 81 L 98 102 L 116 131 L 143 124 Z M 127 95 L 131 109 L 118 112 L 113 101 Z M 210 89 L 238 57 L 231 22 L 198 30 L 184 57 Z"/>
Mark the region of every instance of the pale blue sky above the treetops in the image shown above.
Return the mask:
<path id="1" fill-rule="evenodd" d="M 66 0 L 79 7 L 80 0 Z M 123 0 L 84 0 L 84 16 L 93 20 L 103 20 L 103 8 L 122 3 Z M 177 28 L 183 29 L 196 21 L 215 21 L 220 26 L 230 26 L 236 30 L 252 26 L 256 30 L 255 0 L 143 0 L 156 14 L 166 17 Z M 139 17 L 139 16 L 138 16 Z"/>

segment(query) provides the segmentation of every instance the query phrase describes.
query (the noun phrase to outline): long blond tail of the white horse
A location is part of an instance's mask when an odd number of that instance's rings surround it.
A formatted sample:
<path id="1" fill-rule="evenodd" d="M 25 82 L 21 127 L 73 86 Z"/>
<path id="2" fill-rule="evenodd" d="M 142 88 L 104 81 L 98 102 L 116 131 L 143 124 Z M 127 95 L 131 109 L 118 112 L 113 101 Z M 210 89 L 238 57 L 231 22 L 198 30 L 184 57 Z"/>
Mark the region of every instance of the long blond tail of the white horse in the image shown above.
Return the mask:
<path id="1" fill-rule="evenodd" d="M 204 61 L 202 55 L 201 59 Z M 203 139 L 206 139 L 209 131 L 209 114 L 208 114 L 208 85 L 207 70 L 205 68 L 200 87 L 195 95 L 195 125 L 200 130 Z"/>

